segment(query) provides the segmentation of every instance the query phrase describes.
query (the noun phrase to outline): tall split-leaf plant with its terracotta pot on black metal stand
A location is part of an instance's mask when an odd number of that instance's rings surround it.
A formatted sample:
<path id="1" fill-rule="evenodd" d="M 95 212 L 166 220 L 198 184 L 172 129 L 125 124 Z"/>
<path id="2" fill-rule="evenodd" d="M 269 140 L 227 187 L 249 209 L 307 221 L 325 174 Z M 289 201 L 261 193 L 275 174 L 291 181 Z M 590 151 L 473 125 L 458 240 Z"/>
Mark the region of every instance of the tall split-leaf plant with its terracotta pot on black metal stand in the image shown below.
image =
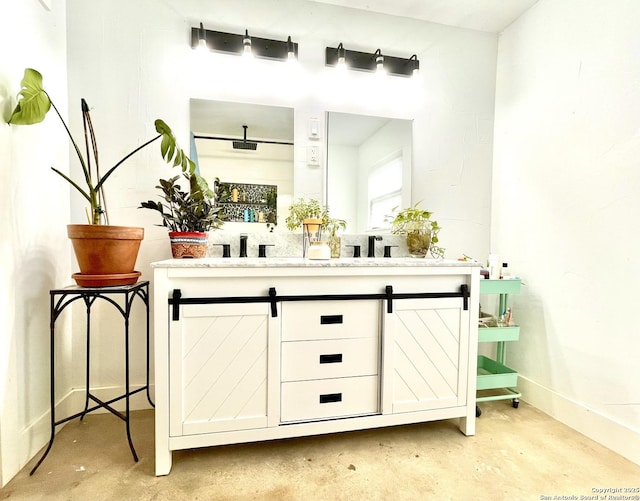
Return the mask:
<path id="1" fill-rule="evenodd" d="M 101 172 L 98 162 L 98 147 L 87 102 L 84 99 L 81 100 L 85 143 L 83 154 L 79 146 L 80 143 L 73 138 L 60 111 L 44 90 L 42 75 L 32 68 L 25 69 L 21 90 L 18 93 L 18 104 L 8 123 L 13 125 L 40 123 L 51 108 L 62 122 L 80 161 L 84 186 L 82 186 L 82 182 L 72 180 L 55 167 L 52 169 L 78 190 L 87 199 L 90 206 L 89 224 L 67 226 L 67 233 L 72 239 L 73 249 L 80 265 L 80 273 L 74 274 L 74 278 L 79 285 L 87 283 L 86 280 L 90 280 L 94 286 L 135 283 L 140 273 L 134 272 L 133 268 L 140 241 L 144 236 L 144 229 L 109 225 L 104 201 L 104 183 L 127 159 L 158 139 L 161 139 L 160 153 L 165 161 L 173 166 L 180 166 L 183 172 L 188 172 L 193 176 L 196 176 L 195 164 L 178 147 L 169 126 L 162 120 L 156 120 L 157 136 L 138 146 L 114 165 Z M 197 176 L 195 179 L 203 190 L 208 189 L 202 178 Z M 101 277 L 104 277 L 104 283 L 101 282 Z"/>

